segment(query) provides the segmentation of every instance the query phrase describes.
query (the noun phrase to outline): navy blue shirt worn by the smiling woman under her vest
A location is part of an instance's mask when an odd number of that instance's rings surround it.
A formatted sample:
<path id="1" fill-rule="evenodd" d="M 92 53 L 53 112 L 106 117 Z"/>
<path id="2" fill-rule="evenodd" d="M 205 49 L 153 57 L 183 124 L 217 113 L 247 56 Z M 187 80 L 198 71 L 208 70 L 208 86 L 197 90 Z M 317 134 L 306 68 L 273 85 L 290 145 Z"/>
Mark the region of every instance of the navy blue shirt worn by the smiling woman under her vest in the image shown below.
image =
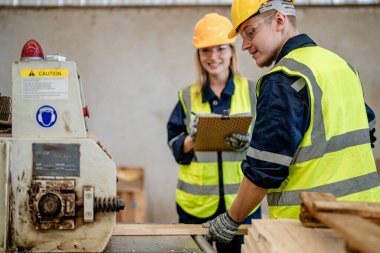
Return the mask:
<path id="1" fill-rule="evenodd" d="M 202 102 L 210 103 L 211 112 L 216 114 L 223 114 L 225 110 L 228 110 L 231 105 L 231 96 L 234 94 L 235 84 L 233 81 L 233 75 L 230 73 L 226 86 L 224 87 L 220 98 L 211 90 L 210 84 L 206 81 L 205 86 L 202 89 Z M 175 160 L 179 164 L 188 165 L 194 157 L 194 152 L 184 154 L 182 152 L 183 142 L 188 135 L 186 131 L 186 125 L 184 119 L 186 114 L 182 108 L 181 103 L 178 101 L 175 106 L 167 124 L 168 130 L 168 142 L 172 143 L 172 153 Z"/>

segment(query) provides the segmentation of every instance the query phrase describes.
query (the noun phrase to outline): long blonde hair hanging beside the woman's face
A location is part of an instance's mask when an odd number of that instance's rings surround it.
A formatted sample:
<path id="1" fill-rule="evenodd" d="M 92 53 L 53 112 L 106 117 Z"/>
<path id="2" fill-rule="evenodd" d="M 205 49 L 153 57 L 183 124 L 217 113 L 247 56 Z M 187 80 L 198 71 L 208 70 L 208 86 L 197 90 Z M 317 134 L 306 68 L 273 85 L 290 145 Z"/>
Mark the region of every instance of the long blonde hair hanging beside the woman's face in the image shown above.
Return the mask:
<path id="1" fill-rule="evenodd" d="M 240 76 L 240 71 L 238 67 L 238 59 L 237 59 L 237 53 L 236 53 L 236 48 L 234 45 L 229 44 L 231 47 L 231 63 L 230 63 L 230 70 L 233 75 Z M 195 58 L 195 68 L 197 71 L 197 79 L 196 79 L 196 84 L 197 84 L 197 91 L 196 95 L 199 95 L 203 86 L 205 85 L 205 82 L 207 80 L 207 72 L 206 70 L 202 67 L 200 58 L 199 58 L 199 50 L 195 51 L 194 54 Z"/>

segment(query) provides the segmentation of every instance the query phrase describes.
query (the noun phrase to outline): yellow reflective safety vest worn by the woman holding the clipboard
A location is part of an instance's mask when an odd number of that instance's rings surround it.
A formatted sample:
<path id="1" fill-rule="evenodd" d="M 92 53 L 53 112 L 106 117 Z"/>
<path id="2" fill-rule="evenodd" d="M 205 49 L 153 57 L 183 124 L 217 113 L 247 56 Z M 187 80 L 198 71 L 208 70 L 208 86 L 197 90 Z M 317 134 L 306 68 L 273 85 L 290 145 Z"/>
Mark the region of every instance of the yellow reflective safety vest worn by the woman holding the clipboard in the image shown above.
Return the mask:
<path id="1" fill-rule="evenodd" d="M 231 97 L 230 114 L 255 112 L 255 85 L 247 79 L 234 76 L 235 91 Z M 189 123 L 196 114 L 211 113 L 209 102 L 202 103 L 202 95 L 196 95 L 196 84 L 179 91 L 179 100 Z M 251 128 L 253 123 L 251 124 Z M 240 164 L 245 152 L 221 152 L 223 187 L 226 209 L 235 199 L 243 179 Z M 189 165 L 180 165 L 176 201 L 188 214 L 198 218 L 213 215 L 219 203 L 219 177 L 217 152 L 195 152 Z"/>

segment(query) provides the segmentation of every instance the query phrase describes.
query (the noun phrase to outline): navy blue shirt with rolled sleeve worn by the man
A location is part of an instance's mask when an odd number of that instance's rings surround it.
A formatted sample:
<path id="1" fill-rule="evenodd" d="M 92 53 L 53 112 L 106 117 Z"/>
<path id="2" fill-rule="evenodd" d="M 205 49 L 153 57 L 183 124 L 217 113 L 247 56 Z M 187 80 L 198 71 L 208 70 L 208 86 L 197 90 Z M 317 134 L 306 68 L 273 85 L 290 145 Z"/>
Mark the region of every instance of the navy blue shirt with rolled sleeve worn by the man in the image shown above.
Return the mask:
<path id="1" fill-rule="evenodd" d="M 276 63 L 290 51 L 316 43 L 306 34 L 290 38 L 281 49 Z M 299 77 L 275 72 L 262 81 L 257 100 L 257 116 L 252 133 L 251 148 L 294 157 L 310 122 L 307 86 L 296 91 L 291 85 Z M 369 121 L 375 118 L 366 105 Z M 242 163 L 244 175 L 265 189 L 278 188 L 289 175 L 289 167 L 247 156 Z"/>

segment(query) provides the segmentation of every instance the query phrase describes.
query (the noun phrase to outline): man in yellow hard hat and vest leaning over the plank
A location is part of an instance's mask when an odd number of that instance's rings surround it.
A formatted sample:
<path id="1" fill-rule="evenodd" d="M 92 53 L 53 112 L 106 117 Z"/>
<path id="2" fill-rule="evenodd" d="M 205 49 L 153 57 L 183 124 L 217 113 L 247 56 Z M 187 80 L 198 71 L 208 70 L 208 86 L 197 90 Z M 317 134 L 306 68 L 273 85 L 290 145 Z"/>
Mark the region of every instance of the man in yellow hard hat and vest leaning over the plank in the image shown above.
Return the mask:
<path id="1" fill-rule="evenodd" d="M 234 0 L 233 29 L 259 67 L 256 121 L 244 178 L 231 208 L 204 224 L 206 239 L 231 240 L 267 195 L 271 218 L 300 213 L 299 193 L 329 192 L 345 201 L 380 201 L 371 146 L 375 115 L 358 72 L 296 27 L 293 2 Z"/>

